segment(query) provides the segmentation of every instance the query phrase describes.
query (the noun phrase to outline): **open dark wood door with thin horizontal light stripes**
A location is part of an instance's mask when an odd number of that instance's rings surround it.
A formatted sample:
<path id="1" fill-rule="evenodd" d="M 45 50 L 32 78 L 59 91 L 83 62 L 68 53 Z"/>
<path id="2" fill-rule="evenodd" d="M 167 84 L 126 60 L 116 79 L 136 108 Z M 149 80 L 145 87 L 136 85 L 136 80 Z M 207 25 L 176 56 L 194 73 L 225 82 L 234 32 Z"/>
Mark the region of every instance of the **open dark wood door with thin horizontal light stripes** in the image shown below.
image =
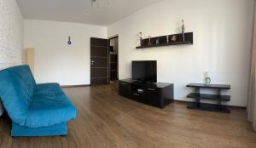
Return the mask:
<path id="1" fill-rule="evenodd" d="M 108 39 L 90 38 L 90 84 L 108 84 Z"/>

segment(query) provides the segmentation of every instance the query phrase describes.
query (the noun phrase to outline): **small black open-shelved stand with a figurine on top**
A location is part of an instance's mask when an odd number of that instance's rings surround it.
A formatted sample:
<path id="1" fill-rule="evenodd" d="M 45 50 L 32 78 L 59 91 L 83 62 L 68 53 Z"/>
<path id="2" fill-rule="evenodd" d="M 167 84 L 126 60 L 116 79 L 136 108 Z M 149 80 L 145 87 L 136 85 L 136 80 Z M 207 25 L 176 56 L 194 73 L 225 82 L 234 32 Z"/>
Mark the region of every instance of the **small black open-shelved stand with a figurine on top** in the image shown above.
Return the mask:
<path id="1" fill-rule="evenodd" d="M 223 89 L 230 89 L 230 85 L 189 83 L 187 87 L 195 88 L 195 93 L 190 93 L 187 95 L 188 98 L 195 99 L 195 102 L 188 102 L 189 109 L 230 113 L 230 109 L 228 108 L 227 105 L 221 105 L 222 101 L 230 101 L 230 95 L 221 94 L 221 91 Z M 200 88 L 217 89 L 218 94 L 201 94 Z M 218 104 L 214 105 L 214 104 L 201 103 L 200 100 L 217 100 Z"/>

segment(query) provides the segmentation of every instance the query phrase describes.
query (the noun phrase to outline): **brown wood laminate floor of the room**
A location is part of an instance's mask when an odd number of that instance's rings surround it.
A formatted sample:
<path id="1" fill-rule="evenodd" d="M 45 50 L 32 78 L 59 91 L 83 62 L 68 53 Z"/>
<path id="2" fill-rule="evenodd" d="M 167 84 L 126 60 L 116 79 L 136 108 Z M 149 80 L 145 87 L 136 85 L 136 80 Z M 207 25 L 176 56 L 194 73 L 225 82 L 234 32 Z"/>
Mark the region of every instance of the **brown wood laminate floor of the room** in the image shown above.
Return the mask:
<path id="1" fill-rule="evenodd" d="M 65 88 L 78 109 L 67 137 L 10 137 L 0 118 L 0 147 L 24 148 L 256 148 L 245 109 L 231 114 L 189 110 L 175 102 L 165 109 L 120 97 L 116 87 Z"/>

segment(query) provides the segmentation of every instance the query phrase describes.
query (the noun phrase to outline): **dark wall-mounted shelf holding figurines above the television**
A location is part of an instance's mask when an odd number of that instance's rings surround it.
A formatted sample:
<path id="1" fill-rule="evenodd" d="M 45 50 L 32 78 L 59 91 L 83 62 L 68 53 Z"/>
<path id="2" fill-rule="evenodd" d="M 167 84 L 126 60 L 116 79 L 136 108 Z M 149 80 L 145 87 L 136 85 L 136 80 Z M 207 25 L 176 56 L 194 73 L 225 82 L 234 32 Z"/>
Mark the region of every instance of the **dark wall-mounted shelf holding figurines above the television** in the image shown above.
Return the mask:
<path id="1" fill-rule="evenodd" d="M 167 36 L 168 36 L 168 42 L 167 42 Z M 173 42 L 171 40 L 172 36 L 177 37 L 177 41 Z M 157 40 L 159 43 L 157 43 Z M 185 41 L 183 41 L 182 34 L 172 34 L 172 35 L 166 35 L 166 36 L 160 36 L 160 37 L 152 37 L 143 39 L 143 45 L 137 47 L 139 48 L 154 48 L 154 47 L 161 47 L 161 46 L 171 46 L 171 45 L 182 45 L 182 44 L 193 44 L 193 32 L 185 33 Z"/>

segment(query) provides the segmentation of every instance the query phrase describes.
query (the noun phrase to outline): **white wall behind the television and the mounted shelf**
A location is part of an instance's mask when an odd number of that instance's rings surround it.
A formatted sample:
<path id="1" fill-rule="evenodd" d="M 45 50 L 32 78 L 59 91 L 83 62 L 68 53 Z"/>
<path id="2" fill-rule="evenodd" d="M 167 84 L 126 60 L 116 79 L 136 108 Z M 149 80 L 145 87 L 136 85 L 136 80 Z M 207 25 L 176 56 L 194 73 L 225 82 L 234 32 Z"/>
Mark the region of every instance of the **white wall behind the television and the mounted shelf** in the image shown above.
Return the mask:
<path id="1" fill-rule="evenodd" d="M 137 33 L 155 37 L 194 32 L 193 45 L 136 49 Z M 119 34 L 119 78 L 131 77 L 131 60 L 157 60 L 158 81 L 175 84 L 175 99 L 192 91 L 187 83 L 230 83 L 230 105 L 245 106 L 253 32 L 253 0 L 164 0 L 108 26 Z"/>

